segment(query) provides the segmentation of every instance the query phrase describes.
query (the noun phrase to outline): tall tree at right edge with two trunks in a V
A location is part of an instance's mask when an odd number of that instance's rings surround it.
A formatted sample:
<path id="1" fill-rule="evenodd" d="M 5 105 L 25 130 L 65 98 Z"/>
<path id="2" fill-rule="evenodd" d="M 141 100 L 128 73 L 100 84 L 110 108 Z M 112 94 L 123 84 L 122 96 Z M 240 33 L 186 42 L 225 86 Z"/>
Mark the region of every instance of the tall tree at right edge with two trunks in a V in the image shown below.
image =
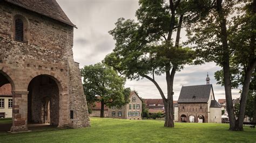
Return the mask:
<path id="1" fill-rule="evenodd" d="M 192 23 L 187 24 L 189 42 L 196 44 L 197 53 L 205 62 L 214 61 L 223 67 L 223 83 L 230 130 L 242 131 L 245 107 L 255 60 L 256 2 L 204 1 L 206 9 L 191 12 Z M 237 9 L 235 9 L 237 8 Z M 233 12 L 238 15 L 232 17 Z M 202 13 L 204 13 L 202 15 Z M 232 103 L 232 67 L 240 68 L 244 75 L 239 116 L 235 119 Z M 236 83 L 235 83 L 236 84 Z"/>

